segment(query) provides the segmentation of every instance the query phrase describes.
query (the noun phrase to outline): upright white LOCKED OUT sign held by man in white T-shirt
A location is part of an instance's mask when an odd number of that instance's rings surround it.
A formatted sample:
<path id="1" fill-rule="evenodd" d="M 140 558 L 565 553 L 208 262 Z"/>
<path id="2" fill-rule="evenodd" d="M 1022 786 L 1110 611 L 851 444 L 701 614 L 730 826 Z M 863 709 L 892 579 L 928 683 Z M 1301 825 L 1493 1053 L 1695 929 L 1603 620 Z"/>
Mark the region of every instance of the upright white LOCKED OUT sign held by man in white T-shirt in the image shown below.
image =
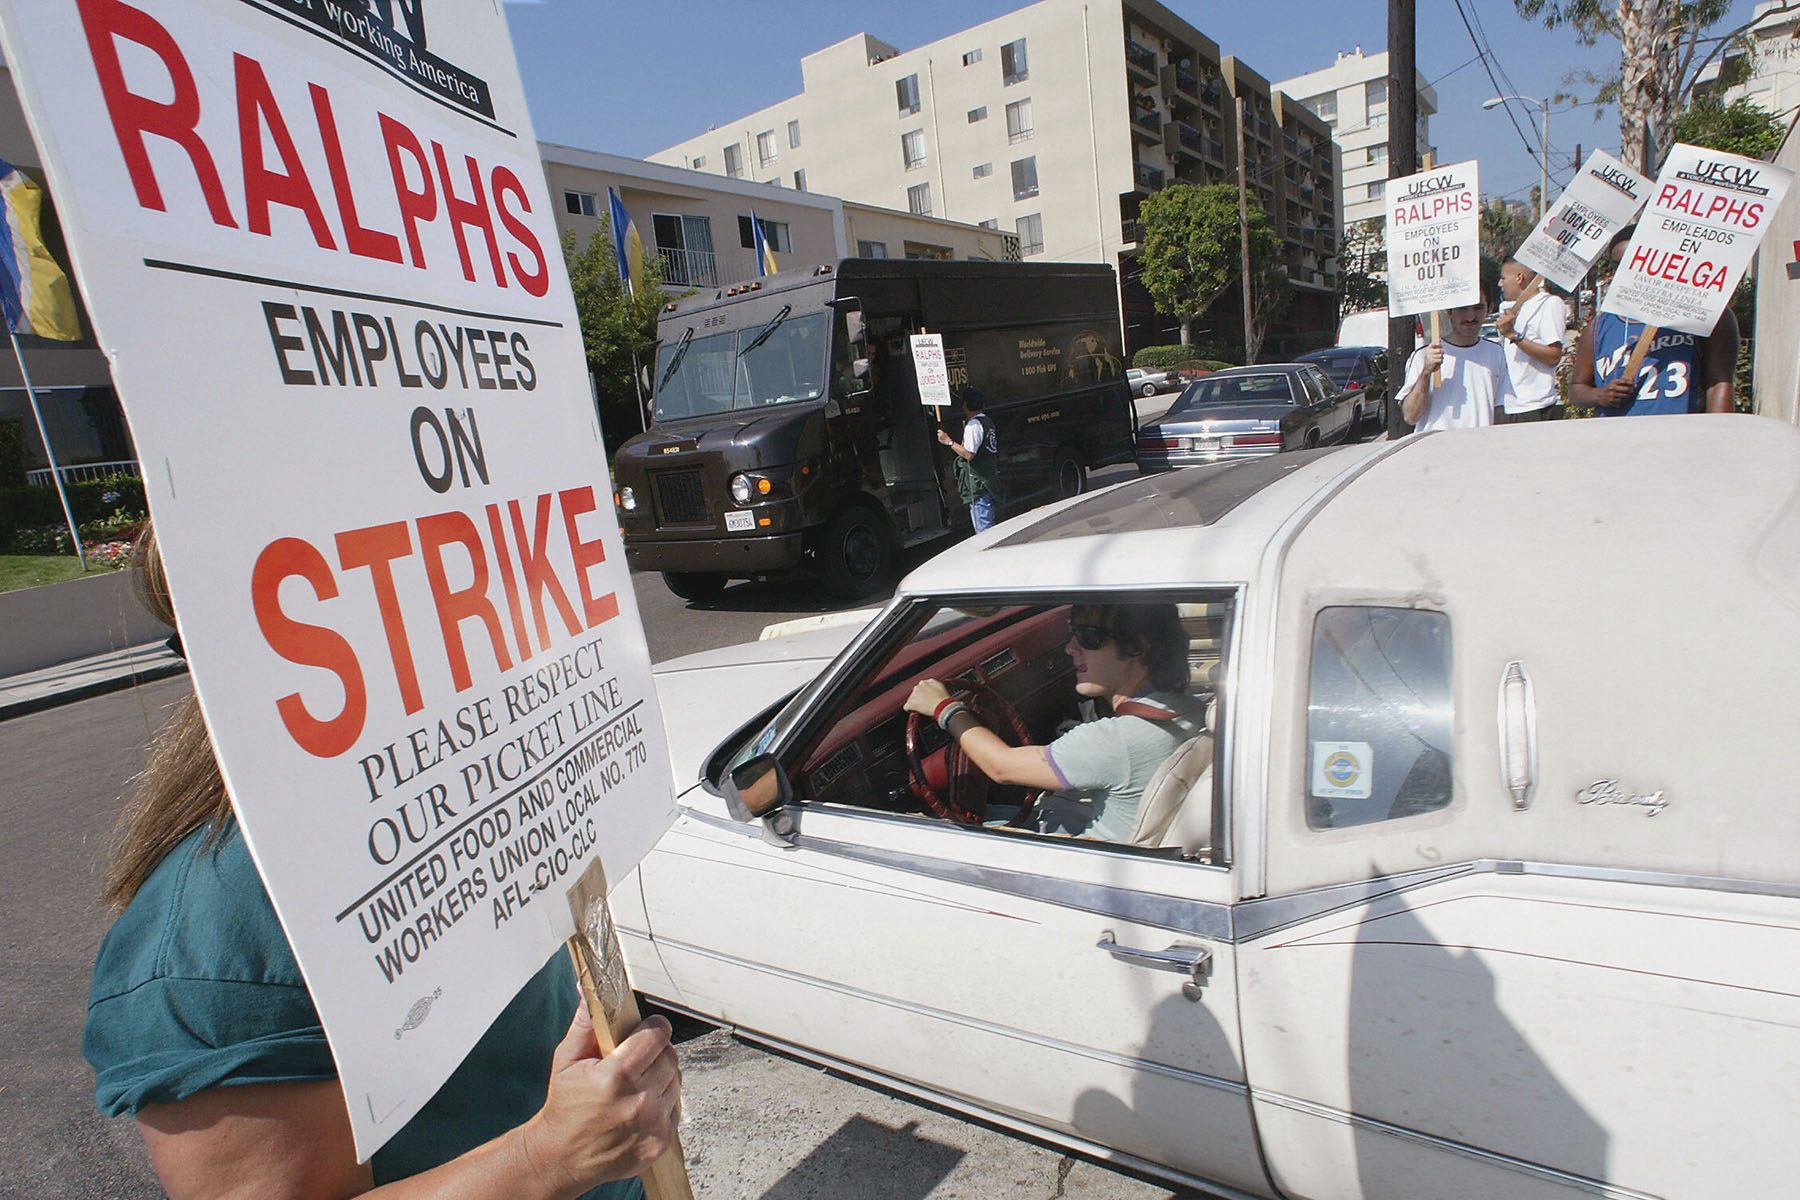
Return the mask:
<path id="1" fill-rule="evenodd" d="M 1388 180 L 1388 315 L 1481 299 L 1481 194 L 1476 164 Z"/>

